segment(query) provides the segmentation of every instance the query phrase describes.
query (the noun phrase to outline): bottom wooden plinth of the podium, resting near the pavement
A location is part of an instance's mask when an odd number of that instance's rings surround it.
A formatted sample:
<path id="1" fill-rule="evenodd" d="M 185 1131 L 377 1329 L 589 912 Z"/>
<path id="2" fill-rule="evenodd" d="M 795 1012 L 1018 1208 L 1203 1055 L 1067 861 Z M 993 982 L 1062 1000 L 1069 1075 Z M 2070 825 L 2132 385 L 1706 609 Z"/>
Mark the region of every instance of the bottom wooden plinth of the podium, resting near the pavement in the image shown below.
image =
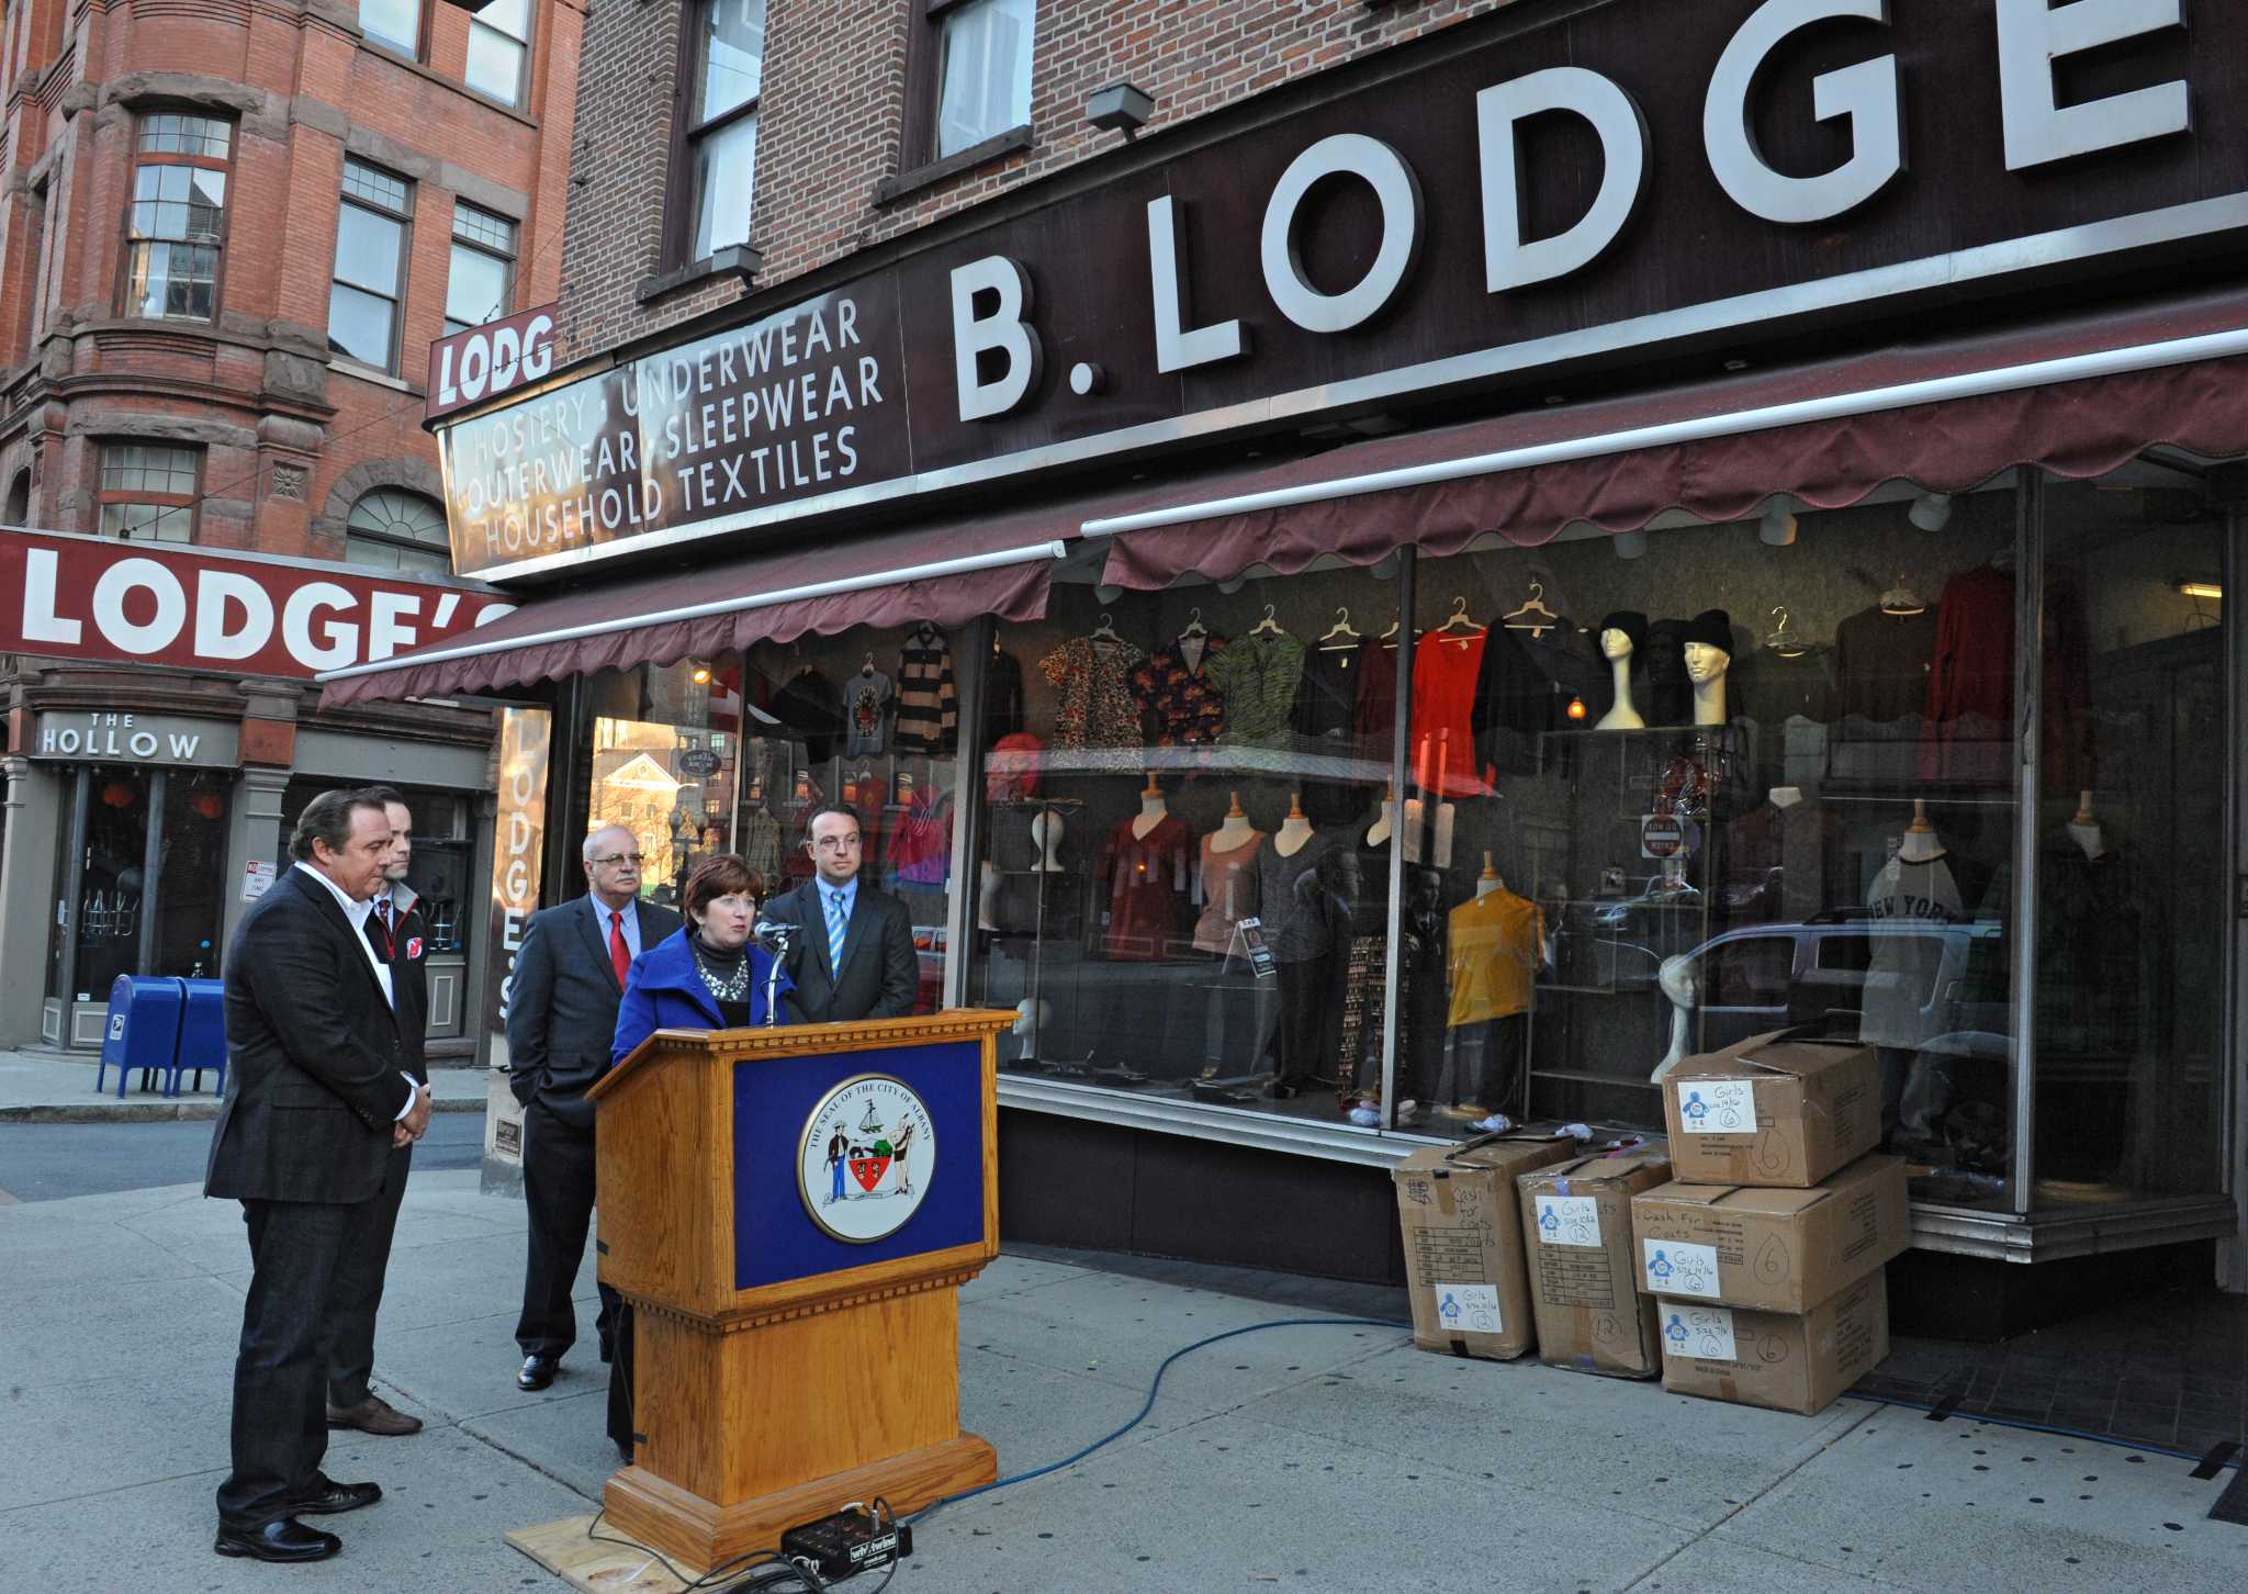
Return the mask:
<path id="1" fill-rule="evenodd" d="M 706 1574 L 737 1556 L 778 1549 L 782 1529 L 823 1518 L 852 1500 L 872 1502 L 879 1495 L 899 1515 L 910 1515 L 944 1495 L 994 1479 L 998 1450 L 976 1434 L 960 1434 L 731 1506 L 627 1466 L 609 1477 L 600 1504 L 620 1536 Z"/>

